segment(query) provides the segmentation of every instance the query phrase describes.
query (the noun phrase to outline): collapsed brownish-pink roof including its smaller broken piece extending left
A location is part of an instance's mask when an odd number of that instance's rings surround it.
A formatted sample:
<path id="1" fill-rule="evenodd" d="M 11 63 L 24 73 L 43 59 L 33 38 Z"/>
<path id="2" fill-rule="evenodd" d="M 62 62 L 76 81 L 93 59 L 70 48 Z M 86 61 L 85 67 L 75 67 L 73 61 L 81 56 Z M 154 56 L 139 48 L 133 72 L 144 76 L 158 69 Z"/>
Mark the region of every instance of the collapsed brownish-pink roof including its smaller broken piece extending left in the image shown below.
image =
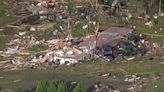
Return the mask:
<path id="1" fill-rule="evenodd" d="M 88 38 L 83 38 L 83 42 L 80 43 L 80 47 L 88 47 L 96 45 L 96 47 L 103 47 L 106 45 L 115 46 L 124 38 L 132 33 L 130 28 L 122 27 L 111 27 L 103 32 L 101 32 L 98 37 L 92 35 Z"/>

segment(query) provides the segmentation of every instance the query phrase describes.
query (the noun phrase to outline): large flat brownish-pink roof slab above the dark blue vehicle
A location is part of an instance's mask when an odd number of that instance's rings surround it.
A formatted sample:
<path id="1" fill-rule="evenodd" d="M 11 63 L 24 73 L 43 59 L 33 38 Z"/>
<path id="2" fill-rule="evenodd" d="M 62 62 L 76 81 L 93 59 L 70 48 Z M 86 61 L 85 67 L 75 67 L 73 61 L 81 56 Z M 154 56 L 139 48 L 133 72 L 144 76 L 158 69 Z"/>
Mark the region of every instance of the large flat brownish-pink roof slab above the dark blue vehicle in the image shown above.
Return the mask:
<path id="1" fill-rule="evenodd" d="M 129 28 L 111 27 L 99 34 L 97 38 L 97 47 L 103 47 L 105 45 L 114 46 L 114 44 L 119 43 L 124 37 L 131 33 L 132 29 Z"/>

